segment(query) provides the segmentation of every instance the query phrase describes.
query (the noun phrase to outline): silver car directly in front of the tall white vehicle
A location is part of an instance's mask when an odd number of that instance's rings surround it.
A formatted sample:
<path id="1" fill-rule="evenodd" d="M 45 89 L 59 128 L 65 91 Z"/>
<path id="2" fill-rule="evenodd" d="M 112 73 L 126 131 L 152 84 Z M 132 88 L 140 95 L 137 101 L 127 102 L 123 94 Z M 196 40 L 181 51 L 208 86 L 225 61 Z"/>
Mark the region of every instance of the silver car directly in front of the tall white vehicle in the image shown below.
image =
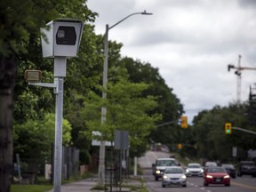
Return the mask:
<path id="1" fill-rule="evenodd" d="M 180 166 L 172 166 L 164 170 L 162 187 L 169 186 L 187 187 L 187 177 Z"/>

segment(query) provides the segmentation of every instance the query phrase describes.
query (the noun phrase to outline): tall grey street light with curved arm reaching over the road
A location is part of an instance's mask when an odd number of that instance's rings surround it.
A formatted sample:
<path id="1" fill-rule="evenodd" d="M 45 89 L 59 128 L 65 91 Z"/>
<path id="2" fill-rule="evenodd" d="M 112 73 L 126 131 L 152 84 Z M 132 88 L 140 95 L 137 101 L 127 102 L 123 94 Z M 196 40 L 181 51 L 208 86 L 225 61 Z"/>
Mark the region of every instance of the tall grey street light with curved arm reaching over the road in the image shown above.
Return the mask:
<path id="1" fill-rule="evenodd" d="M 142 14 L 142 15 L 152 15 L 153 13 L 150 12 L 133 12 L 132 14 L 127 15 L 124 17 L 124 19 L 119 20 L 116 22 L 116 24 L 112 25 L 111 27 L 108 27 L 108 24 L 106 25 L 106 32 L 104 36 L 104 66 L 103 66 L 103 92 L 102 92 L 102 100 L 105 100 L 107 98 L 107 82 L 108 82 L 108 31 L 111 28 L 116 27 L 119 23 L 123 22 L 124 20 L 128 19 L 132 15 L 136 14 Z M 101 108 L 101 124 L 104 124 L 106 122 L 106 114 L 107 114 L 107 108 L 105 106 L 102 106 Z M 98 175 L 98 182 L 99 185 L 103 185 L 105 182 L 105 141 L 100 141 L 100 159 L 99 159 L 99 175 Z"/>

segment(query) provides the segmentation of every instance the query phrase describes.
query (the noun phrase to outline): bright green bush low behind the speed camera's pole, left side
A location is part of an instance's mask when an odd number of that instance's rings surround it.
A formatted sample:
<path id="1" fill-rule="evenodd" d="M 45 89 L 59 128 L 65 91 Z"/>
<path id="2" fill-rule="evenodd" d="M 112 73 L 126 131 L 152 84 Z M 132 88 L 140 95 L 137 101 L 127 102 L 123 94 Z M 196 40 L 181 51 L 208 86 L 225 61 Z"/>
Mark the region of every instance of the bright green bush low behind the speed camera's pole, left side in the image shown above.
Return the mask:
<path id="1" fill-rule="evenodd" d="M 54 130 L 54 114 L 46 114 L 42 120 L 30 120 L 24 124 L 15 124 L 15 153 L 19 153 L 21 158 L 49 158 L 51 144 L 54 143 Z M 64 119 L 62 134 L 64 145 L 68 145 L 71 140 L 70 131 L 71 125 Z"/>

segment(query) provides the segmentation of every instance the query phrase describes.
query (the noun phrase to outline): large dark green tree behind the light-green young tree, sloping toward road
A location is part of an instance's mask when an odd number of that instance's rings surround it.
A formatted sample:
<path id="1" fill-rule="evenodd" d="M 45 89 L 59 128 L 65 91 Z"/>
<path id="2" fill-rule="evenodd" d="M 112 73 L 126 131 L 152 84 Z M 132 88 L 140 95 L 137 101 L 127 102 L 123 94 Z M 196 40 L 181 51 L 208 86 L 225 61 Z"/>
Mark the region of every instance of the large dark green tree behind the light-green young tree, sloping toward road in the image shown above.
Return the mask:
<path id="1" fill-rule="evenodd" d="M 164 79 L 160 76 L 158 68 L 153 68 L 149 63 L 142 63 L 140 60 L 132 60 L 125 57 L 121 60 L 122 66 L 127 69 L 129 80 L 133 83 L 149 84 L 148 89 L 143 91 L 143 95 L 152 95 L 156 98 L 157 107 L 148 114 L 158 113 L 163 116 L 158 124 L 173 122 L 173 124 L 164 127 L 158 127 L 150 132 L 148 140 L 170 144 L 172 138 L 173 127 L 177 126 L 178 120 L 182 115 L 183 106 L 180 100 L 172 92 L 172 88 L 165 84 Z"/>

